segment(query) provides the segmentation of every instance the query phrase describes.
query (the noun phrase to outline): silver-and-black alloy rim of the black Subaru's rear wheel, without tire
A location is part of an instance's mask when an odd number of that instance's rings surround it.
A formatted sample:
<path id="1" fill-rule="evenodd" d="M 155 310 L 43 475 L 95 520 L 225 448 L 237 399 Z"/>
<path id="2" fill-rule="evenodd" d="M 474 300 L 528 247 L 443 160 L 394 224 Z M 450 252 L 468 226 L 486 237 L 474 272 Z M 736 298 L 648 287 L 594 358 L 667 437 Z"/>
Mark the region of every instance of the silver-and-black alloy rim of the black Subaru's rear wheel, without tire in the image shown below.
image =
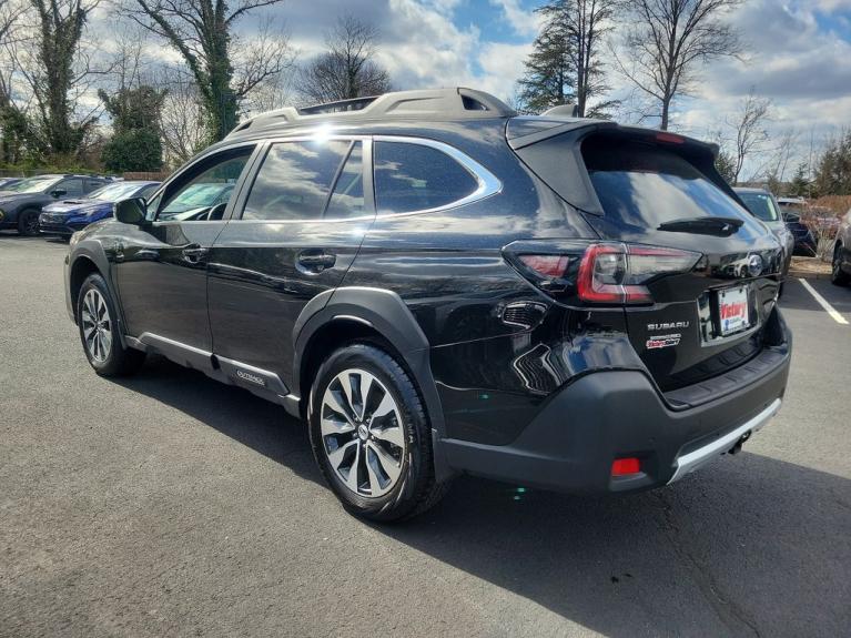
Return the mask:
<path id="1" fill-rule="evenodd" d="M 398 483 L 406 440 L 398 406 L 373 374 L 337 374 L 322 397 L 322 447 L 340 480 L 361 497 L 387 494 Z"/>

